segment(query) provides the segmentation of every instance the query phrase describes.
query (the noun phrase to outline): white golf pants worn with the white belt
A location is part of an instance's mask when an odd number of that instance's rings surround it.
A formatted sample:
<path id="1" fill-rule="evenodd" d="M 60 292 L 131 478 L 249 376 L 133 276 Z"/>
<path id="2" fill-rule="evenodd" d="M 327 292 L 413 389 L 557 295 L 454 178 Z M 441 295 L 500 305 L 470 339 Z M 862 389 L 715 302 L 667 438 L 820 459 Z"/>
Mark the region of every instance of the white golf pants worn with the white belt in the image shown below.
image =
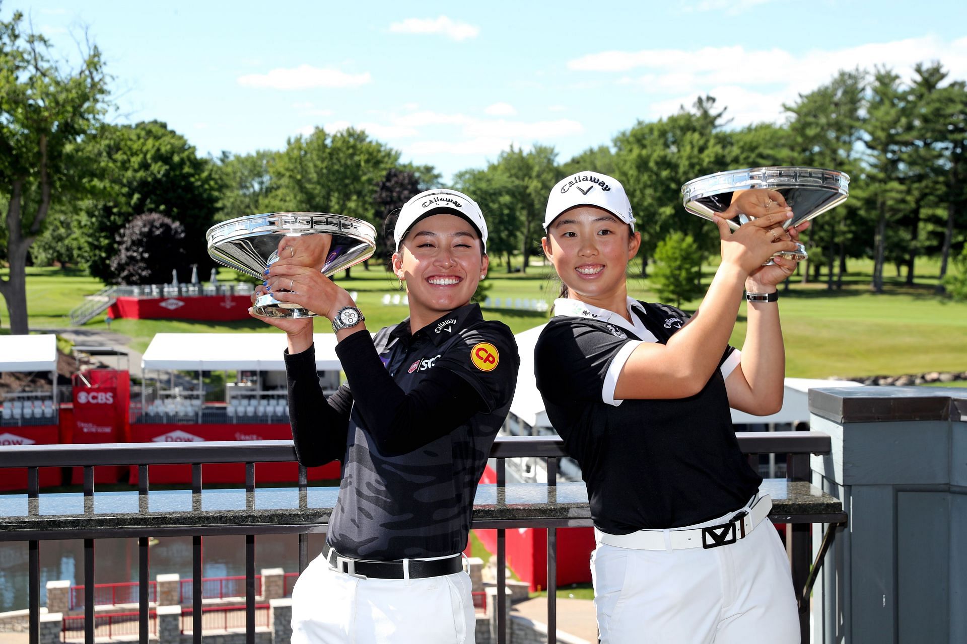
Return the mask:
<path id="1" fill-rule="evenodd" d="M 598 544 L 591 575 L 601 644 L 800 641 L 789 560 L 769 519 L 745 539 L 709 549 Z"/>

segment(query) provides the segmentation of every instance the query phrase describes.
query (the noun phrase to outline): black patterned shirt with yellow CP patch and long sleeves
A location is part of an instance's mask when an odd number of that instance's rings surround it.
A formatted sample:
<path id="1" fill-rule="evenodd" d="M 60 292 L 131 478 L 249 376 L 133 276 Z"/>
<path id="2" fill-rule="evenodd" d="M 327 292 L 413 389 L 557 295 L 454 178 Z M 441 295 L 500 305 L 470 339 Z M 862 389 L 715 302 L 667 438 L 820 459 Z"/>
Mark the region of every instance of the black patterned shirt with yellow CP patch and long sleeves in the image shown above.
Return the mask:
<path id="1" fill-rule="evenodd" d="M 412 335 L 409 320 L 371 340 L 354 333 L 338 343 L 337 354 L 349 386 L 328 406 L 298 386 L 309 378 L 305 366 L 296 367 L 298 356 L 286 363 L 300 461 L 314 460 L 314 452 L 337 456 L 333 440 L 341 438 L 342 477 L 327 542 L 363 559 L 459 552 L 513 399 L 520 360 L 511 329 L 485 321 L 480 307 L 468 304 Z M 324 427 L 311 422 L 310 409 L 326 418 Z"/>

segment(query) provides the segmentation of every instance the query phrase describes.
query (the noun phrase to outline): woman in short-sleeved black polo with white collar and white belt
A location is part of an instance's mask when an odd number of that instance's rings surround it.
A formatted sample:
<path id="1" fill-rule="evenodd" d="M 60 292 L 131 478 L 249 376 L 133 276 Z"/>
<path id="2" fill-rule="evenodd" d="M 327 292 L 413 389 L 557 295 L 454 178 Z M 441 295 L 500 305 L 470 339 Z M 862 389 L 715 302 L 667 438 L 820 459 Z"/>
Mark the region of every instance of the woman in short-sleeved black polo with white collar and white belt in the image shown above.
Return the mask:
<path id="1" fill-rule="evenodd" d="M 776 285 L 807 224 L 771 190 L 737 193 L 752 215 L 731 234 L 690 317 L 627 294 L 640 233 L 620 182 L 593 172 L 551 190 L 544 254 L 562 282 L 535 348 L 547 415 L 581 465 L 595 522 L 592 577 L 601 642 L 799 641 L 792 579 L 771 500 L 742 455 L 729 407 L 782 403 Z M 743 288 L 743 350 L 728 346 Z"/>

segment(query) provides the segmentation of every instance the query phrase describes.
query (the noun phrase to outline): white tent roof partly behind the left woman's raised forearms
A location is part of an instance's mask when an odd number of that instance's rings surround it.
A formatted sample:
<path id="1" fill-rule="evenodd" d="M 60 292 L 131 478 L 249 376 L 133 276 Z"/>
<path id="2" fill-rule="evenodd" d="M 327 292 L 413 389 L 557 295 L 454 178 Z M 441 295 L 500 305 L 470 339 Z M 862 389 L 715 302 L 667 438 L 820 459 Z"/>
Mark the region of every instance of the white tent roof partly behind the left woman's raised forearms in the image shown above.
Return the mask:
<path id="1" fill-rule="evenodd" d="M 336 371 L 336 334 L 316 333 L 317 371 Z M 179 371 L 285 371 L 284 333 L 158 333 L 141 360 L 142 369 Z"/>

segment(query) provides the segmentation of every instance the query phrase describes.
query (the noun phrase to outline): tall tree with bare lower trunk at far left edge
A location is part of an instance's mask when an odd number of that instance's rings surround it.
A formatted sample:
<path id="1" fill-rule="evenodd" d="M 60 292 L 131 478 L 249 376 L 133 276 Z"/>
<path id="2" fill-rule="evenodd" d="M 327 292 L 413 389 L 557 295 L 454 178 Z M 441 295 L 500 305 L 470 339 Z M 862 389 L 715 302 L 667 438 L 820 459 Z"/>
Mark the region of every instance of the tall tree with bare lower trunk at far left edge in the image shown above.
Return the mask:
<path id="1" fill-rule="evenodd" d="M 69 69 L 53 60 L 44 36 L 22 33 L 22 21 L 20 12 L 0 21 L 0 201 L 10 262 L 0 294 L 15 334 L 29 331 L 27 253 L 51 206 L 83 190 L 79 144 L 100 123 L 107 96 L 97 46 Z"/>

